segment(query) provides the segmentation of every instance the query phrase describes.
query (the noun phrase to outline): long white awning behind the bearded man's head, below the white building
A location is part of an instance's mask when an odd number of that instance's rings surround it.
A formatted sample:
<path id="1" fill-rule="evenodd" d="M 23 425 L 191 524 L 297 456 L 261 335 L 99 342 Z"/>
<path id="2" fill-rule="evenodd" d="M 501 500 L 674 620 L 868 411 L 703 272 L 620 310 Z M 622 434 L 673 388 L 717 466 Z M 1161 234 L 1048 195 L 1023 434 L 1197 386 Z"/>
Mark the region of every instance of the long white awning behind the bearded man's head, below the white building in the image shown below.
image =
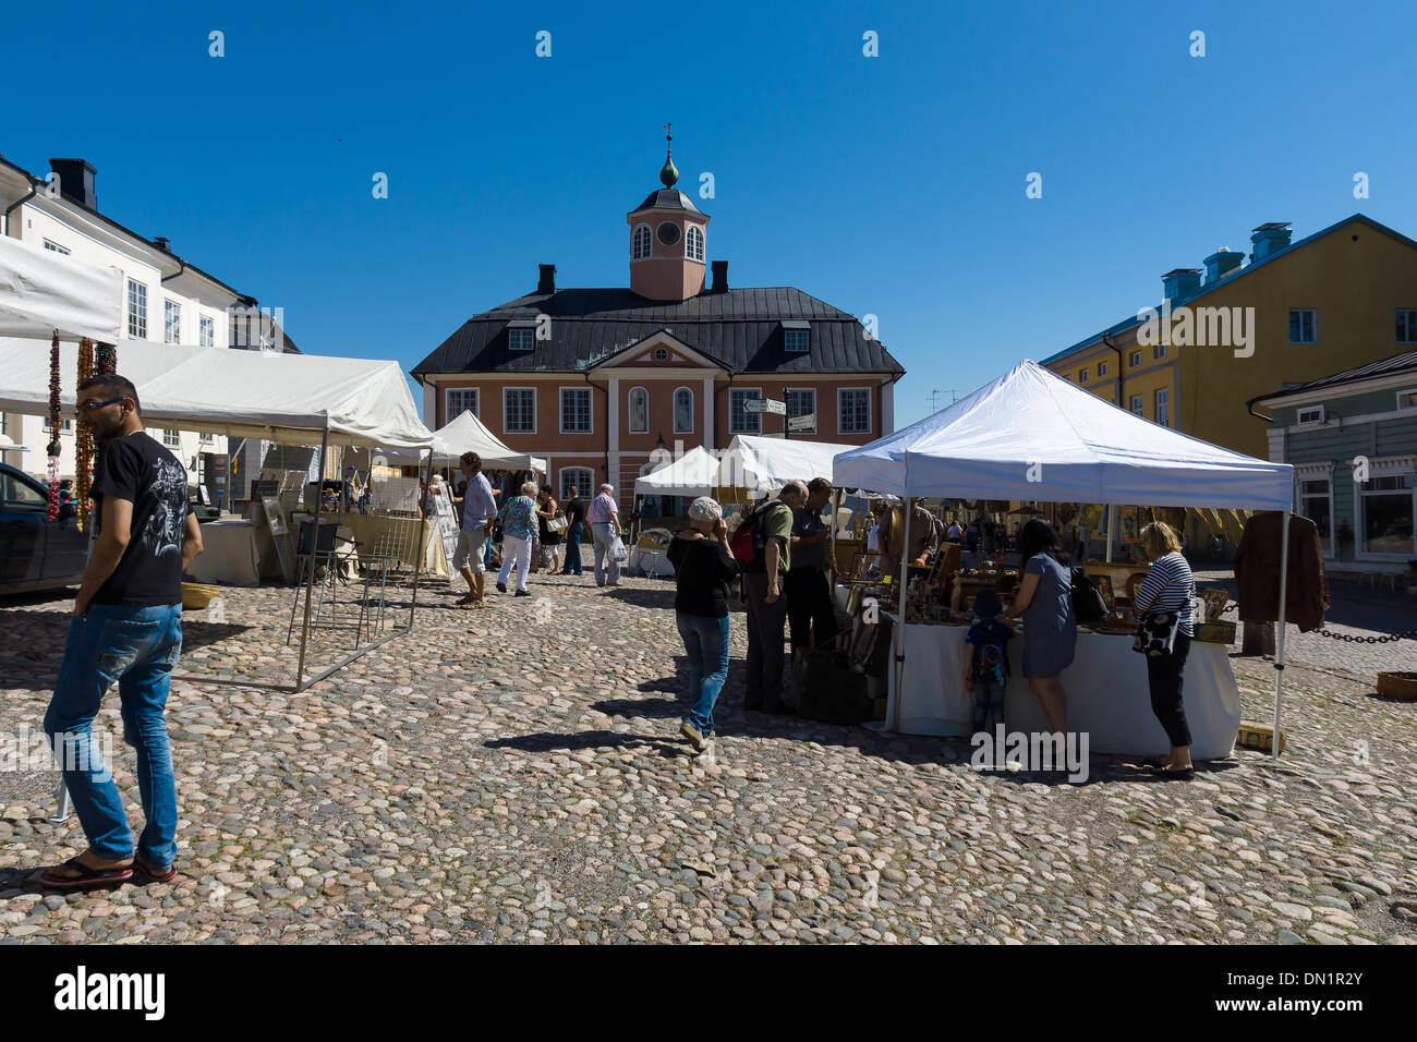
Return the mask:
<path id="1" fill-rule="evenodd" d="M 118 343 L 118 373 L 133 381 L 143 422 L 289 445 L 427 448 L 432 432 L 414 407 L 398 363 L 222 347 Z M 72 415 L 75 344 L 60 346 L 61 401 Z M 0 408 L 45 415 L 50 350 L 0 339 Z"/>

